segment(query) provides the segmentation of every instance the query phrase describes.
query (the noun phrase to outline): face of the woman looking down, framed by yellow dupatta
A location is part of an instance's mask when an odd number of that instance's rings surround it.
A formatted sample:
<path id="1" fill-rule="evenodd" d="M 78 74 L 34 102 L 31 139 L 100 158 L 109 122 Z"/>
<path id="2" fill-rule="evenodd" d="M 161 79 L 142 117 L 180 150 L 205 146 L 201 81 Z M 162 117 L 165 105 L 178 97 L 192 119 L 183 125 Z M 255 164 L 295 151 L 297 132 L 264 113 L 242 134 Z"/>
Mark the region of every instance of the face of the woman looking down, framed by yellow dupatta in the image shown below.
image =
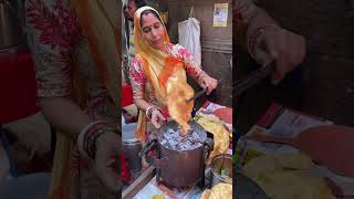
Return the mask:
<path id="1" fill-rule="evenodd" d="M 142 15 L 142 31 L 145 40 L 153 48 L 163 50 L 165 29 L 153 13 Z"/>

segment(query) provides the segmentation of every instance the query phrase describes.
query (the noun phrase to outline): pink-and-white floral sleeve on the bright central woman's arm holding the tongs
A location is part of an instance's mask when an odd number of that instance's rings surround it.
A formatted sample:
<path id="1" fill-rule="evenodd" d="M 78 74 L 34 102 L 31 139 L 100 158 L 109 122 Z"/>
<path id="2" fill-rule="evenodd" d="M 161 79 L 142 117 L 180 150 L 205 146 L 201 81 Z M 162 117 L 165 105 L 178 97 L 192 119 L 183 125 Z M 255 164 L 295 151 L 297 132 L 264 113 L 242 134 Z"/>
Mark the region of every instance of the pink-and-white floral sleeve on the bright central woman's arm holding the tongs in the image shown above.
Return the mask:
<path id="1" fill-rule="evenodd" d="M 187 74 L 197 80 L 202 70 L 200 69 L 200 65 L 197 64 L 194 56 L 188 52 L 186 48 L 179 44 L 175 45 L 175 51 L 177 51 L 178 56 L 184 61 Z"/>

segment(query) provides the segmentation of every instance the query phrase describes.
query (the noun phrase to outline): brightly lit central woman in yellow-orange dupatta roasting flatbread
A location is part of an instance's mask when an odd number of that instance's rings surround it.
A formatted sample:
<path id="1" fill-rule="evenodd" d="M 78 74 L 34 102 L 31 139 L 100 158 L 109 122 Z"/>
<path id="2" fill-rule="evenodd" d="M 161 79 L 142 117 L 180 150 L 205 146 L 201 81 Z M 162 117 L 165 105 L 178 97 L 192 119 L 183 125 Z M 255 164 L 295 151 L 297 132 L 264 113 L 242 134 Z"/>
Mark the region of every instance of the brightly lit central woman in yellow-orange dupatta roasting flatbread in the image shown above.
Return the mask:
<path id="1" fill-rule="evenodd" d="M 160 127 L 167 117 L 166 81 L 183 64 L 187 74 L 210 94 L 217 80 L 196 64 L 188 51 L 171 44 L 156 10 L 139 8 L 134 15 L 134 44 L 136 56 L 131 65 L 134 103 L 139 108 L 136 137 L 146 142 L 148 134 Z"/>

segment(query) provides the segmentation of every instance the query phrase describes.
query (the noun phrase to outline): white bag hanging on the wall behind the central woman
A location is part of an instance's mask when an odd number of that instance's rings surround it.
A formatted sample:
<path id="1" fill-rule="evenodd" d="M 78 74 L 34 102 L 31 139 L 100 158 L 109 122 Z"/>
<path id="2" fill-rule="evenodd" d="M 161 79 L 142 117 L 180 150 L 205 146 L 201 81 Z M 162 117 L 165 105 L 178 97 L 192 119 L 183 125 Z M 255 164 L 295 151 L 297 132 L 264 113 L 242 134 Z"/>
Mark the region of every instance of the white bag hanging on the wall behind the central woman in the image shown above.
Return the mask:
<path id="1" fill-rule="evenodd" d="M 200 22 L 195 18 L 194 7 L 190 8 L 188 20 L 178 23 L 178 42 L 201 66 Z"/>

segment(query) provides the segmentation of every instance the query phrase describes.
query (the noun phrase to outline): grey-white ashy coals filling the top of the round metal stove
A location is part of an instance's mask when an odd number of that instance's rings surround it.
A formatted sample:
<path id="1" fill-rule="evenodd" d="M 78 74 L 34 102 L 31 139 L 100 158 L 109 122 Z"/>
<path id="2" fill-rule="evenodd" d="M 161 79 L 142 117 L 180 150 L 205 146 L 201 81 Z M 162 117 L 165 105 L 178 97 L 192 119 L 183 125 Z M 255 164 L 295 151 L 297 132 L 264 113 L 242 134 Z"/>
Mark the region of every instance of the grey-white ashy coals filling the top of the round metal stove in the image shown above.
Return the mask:
<path id="1" fill-rule="evenodd" d="M 180 136 L 179 130 L 168 129 L 162 136 L 160 144 L 173 150 L 192 150 L 202 145 L 198 133 L 192 129 L 186 136 Z"/>

